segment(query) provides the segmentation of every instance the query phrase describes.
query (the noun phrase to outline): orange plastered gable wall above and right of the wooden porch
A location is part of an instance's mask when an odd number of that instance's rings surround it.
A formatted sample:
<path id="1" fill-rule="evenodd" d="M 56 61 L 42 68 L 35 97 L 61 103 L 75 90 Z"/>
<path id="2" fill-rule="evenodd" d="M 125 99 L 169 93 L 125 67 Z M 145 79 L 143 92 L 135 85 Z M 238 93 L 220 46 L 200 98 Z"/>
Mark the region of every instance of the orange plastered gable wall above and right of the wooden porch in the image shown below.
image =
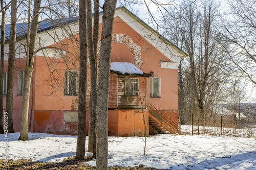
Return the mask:
<path id="1" fill-rule="evenodd" d="M 161 77 L 161 98 L 150 98 L 150 90 L 147 91 L 147 98 L 163 110 L 178 110 L 178 69 L 161 68 L 160 64 L 160 61 L 169 61 L 169 58 L 152 46 L 150 42 L 135 32 L 118 16 L 114 20 L 113 33 L 129 35 L 141 47 L 141 59 L 143 61 L 141 70 L 147 73 L 153 71 L 155 77 Z M 131 53 L 126 54 L 129 48 L 125 47 L 125 50 L 123 50 L 123 48 L 118 48 L 118 46 L 121 45 L 113 43 L 115 55 L 112 55 L 112 61 L 131 61 L 131 59 L 127 59 L 132 57 Z M 124 44 L 122 44 L 123 46 Z M 146 87 L 150 87 L 149 80 Z"/>

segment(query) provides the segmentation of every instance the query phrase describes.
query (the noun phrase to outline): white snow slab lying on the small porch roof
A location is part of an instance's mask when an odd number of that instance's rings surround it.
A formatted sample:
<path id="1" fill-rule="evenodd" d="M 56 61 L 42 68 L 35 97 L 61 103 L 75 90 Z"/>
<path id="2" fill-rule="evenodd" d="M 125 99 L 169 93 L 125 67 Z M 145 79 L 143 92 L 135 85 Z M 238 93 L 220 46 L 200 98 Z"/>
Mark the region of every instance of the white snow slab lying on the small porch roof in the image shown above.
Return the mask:
<path id="1" fill-rule="evenodd" d="M 143 75 L 143 72 L 132 63 L 114 62 L 114 63 L 111 63 L 110 69 L 113 71 L 119 71 L 122 74 L 127 73 L 127 74 Z"/>

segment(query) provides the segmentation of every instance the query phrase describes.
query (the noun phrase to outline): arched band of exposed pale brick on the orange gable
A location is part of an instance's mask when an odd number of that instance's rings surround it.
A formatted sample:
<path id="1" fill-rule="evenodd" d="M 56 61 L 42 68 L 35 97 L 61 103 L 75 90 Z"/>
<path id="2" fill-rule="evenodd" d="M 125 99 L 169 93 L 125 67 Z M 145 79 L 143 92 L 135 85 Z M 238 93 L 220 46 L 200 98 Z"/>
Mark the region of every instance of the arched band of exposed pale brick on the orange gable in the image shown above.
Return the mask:
<path id="1" fill-rule="evenodd" d="M 122 43 L 125 44 L 131 51 L 133 55 L 133 64 L 140 69 L 143 62 L 141 59 L 141 47 L 137 45 L 131 37 L 129 37 L 127 34 L 112 34 L 112 43 Z M 99 51 L 100 51 L 100 41 L 98 42 L 98 62 L 99 62 Z"/>

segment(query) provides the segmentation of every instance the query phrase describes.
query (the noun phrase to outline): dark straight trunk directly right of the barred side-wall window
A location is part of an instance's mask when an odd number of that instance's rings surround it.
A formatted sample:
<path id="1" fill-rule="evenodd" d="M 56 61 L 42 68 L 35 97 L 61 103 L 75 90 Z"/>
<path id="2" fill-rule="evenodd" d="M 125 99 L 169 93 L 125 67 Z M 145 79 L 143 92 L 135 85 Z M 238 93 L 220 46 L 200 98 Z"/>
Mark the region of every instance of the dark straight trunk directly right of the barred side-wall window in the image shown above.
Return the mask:
<path id="1" fill-rule="evenodd" d="M 78 136 L 76 159 L 84 159 L 86 154 L 86 89 L 87 89 L 87 24 L 86 1 L 79 0 L 79 41 L 80 71 L 78 94 Z"/>

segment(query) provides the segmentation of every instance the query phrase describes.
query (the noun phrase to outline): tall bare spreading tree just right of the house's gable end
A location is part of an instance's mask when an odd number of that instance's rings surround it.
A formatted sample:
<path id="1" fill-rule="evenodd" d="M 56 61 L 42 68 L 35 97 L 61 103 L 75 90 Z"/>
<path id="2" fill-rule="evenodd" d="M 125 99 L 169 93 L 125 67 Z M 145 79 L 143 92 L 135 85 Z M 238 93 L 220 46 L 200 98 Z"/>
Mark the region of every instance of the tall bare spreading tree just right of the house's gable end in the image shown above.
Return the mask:
<path id="1" fill-rule="evenodd" d="M 179 109 L 184 112 L 199 112 L 200 125 L 204 125 L 205 113 L 216 103 L 219 77 L 225 66 L 225 54 L 219 44 L 219 6 L 214 1 L 183 2 L 166 21 L 170 29 L 166 35 L 188 54 L 179 67 Z M 175 11 L 172 9 L 171 11 Z M 169 14 L 168 14 L 169 15 Z M 169 34 L 168 34 L 169 33 Z M 196 102 L 196 108 L 193 106 Z M 194 103 L 194 104 L 193 104 Z M 186 111 L 184 106 L 189 107 Z M 191 113 L 190 113 L 191 115 Z"/>

